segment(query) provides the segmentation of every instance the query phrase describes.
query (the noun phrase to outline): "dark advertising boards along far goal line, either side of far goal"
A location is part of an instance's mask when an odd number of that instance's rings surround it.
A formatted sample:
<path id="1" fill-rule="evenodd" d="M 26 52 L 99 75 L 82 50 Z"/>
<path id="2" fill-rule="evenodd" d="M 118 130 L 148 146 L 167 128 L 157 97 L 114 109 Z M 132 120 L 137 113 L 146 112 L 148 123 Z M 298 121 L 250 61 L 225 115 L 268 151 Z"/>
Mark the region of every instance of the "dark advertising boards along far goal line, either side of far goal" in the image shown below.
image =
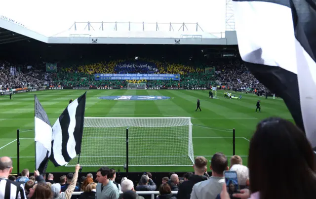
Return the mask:
<path id="1" fill-rule="evenodd" d="M 63 90 L 63 89 L 75 89 L 75 90 L 111 90 L 111 89 L 128 89 L 127 87 L 48 87 L 47 90 Z M 131 88 L 129 88 L 131 89 Z M 148 90 L 206 90 L 206 87 L 148 87 Z"/>

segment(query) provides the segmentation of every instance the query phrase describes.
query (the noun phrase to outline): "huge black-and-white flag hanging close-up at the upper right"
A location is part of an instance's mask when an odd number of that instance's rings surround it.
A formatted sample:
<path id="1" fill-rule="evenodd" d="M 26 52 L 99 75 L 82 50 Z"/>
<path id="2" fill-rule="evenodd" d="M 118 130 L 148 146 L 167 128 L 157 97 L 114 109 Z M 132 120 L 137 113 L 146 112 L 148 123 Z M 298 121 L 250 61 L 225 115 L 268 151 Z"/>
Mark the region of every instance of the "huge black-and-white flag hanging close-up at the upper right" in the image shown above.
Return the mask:
<path id="1" fill-rule="evenodd" d="M 233 0 L 239 53 L 316 147 L 316 1 Z"/>

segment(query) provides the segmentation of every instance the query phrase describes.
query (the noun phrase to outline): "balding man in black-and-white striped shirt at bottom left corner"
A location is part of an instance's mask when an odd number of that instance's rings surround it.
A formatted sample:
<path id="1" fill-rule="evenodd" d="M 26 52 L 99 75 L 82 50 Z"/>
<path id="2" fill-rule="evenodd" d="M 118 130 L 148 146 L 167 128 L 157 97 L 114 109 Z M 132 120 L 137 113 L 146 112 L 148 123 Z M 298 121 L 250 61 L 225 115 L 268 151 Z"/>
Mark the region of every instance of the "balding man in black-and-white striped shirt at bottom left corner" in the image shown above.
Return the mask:
<path id="1" fill-rule="evenodd" d="M 0 199 L 26 199 L 23 185 L 8 179 L 12 172 L 12 159 L 0 158 Z"/>

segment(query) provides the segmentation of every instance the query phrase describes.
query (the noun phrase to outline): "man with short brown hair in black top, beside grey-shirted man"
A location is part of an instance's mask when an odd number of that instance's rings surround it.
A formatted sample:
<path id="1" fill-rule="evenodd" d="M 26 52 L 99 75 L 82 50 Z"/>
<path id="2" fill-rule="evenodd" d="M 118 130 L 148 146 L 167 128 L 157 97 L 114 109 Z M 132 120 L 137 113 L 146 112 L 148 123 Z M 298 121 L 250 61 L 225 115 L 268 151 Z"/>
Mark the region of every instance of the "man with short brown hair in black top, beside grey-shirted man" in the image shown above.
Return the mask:
<path id="1" fill-rule="evenodd" d="M 204 157 L 197 157 L 194 160 L 194 175 L 191 175 L 190 178 L 186 181 L 184 181 L 179 186 L 179 191 L 177 194 L 178 199 L 190 199 L 192 188 L 195 184 L 198 182 L 207 180 L 207 177 L 204 176 L 204 173 L 207 170 L 207 159 Z"/>

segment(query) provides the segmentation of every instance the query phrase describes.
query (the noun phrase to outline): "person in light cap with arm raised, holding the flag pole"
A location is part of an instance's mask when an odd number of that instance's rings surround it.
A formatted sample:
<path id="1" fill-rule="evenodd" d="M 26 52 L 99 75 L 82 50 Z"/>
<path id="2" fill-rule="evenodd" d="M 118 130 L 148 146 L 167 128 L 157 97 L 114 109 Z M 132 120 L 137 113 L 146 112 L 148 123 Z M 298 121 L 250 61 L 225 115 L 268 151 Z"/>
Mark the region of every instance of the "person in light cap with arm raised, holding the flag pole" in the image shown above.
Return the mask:
<path id="1" fill-rule="evenodd" d="M 71 198 L 71 196 L 75 190 L 77 180 L 78 180 L 79 169 L 80 169 L 80 165 L 77 164 L 76 168 L 75 168 L 74 177 L 73 177 L 70 185 L 68 186 L 68 188 L 65 192 L 63 192 L 63 193 L 61 192 L 61 189 L 60 189 L 61 186 L 59 183 L 55 183 L 51 186 L 51 191 L 53 192 L 52 199 L 70 199 Z"/>

